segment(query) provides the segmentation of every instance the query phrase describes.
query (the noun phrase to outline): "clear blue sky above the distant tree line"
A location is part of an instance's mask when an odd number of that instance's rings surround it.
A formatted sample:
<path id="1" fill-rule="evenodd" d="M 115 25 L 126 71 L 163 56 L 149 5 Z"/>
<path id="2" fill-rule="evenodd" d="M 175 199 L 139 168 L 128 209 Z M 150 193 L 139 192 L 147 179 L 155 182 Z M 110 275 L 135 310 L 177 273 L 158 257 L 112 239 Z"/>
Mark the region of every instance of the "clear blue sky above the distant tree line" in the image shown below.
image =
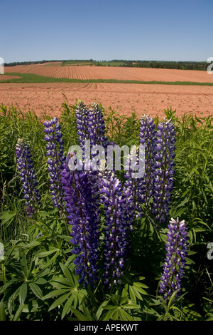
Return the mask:
<path id="1" fill-rule="evenodd" d="M 0 15 L 5 63 L 213 56 L 212 0 L 0 0 Z"/>

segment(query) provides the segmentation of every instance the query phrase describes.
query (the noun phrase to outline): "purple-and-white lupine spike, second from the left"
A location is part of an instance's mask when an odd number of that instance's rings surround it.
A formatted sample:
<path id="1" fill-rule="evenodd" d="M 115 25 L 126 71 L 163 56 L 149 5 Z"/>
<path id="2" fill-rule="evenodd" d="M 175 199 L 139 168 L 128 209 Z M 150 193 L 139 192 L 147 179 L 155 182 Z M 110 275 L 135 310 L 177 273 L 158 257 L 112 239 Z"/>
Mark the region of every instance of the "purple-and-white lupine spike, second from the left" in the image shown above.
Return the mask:
<path id="1" fill-rule="evenodd" d="M 64 143 L 62 140 L 62 133 L 60 131 L 60 123 L 58 118 L 54 117 L 50 121 L 43 123 L 45 126 L 44 140 L 47 142 L 46 149 L 48 156 L 48 172 L 50 182 L 50 194 L 53 200 L 54 207 L 62 209 L 62 187 L 60 182 L 60 172 L 62 170 L 63 162 L 65 161 Z"/>

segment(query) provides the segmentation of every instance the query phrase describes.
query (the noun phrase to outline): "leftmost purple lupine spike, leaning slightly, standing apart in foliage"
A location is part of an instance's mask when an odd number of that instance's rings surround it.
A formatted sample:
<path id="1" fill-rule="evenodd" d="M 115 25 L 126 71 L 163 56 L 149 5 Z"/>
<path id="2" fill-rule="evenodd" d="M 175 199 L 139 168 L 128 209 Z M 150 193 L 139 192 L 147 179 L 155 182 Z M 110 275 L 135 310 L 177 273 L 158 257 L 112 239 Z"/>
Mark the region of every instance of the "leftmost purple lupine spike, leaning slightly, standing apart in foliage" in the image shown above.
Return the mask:
<path id="1" fill-rule="evenodd" d="M 24 199 L 26 200 L 26 213 L 33 217 L 35 206 L 40 205 L 40 194 L 38 192 L 38 181 L 33 169 L 31 150 L 25 140 L 19 138 L 16 144 L 16 158 L 18 175 L 21 177 Z"/>

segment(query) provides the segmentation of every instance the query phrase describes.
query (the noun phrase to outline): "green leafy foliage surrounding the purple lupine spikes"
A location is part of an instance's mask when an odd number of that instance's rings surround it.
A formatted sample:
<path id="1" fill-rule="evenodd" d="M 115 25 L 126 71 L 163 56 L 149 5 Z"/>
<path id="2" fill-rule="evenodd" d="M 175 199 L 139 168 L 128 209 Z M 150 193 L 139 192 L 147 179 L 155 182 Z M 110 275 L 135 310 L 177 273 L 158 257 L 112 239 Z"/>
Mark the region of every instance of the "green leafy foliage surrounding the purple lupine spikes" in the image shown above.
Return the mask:
<path id="1" fill-rule="evenodd" d="M 122 145 L 138 143 L 139 120 L 105 110 L 108 138 Z M 0 110 L 0 320 L 6 321 L 194 321 L 212 320 L 212 261 L 207 244 L 213 242 L 213 142 L 212 116 L 181 118 L 172 108 L 165 118 L 175 124 L 175 187 L 171 217 L 185 220 L 190 238 L 183 292 L 169 301 L 158 295 L 165 258 L 167 227 L 153 229 L 151 217 L 136 220 L 131 235 L 131 254 L 121 285 L 110 291 L 102 284 L 83 287 L 75 274 L 70 236 L 48 192 L 48 169 L 43 140 L 43 121 L 30 110 L 1 105 Z M 160 122 L 155 118 L 155 123 Z M 60 110 L 65 153 L 77 144 L 75 105 L 65 102 Z M 30 145 L 42 201 L 37 217 L 26 217 L 15 147 L 18 138 Z M 70 229 L 70 227 L 68 227 Z"/>

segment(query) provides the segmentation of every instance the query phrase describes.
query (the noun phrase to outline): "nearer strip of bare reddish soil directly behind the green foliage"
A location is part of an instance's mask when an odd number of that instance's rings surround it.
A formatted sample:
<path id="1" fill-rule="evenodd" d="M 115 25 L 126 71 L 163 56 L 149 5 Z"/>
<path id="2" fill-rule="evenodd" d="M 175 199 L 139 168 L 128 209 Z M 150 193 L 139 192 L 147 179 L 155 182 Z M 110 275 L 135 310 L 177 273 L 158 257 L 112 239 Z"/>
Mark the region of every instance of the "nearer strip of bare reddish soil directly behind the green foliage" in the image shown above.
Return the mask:
<path id="1" fill-rule="evenodd" d="M 174 86 L 129 83 L 0 83 L 0 104 L 21 110 L 60 115 L 61 104 L 81 99 L 109 106 L 120 114 L 163 115 L 168 107 L 176 114 L 213 115 L 213 86 Z"/>

